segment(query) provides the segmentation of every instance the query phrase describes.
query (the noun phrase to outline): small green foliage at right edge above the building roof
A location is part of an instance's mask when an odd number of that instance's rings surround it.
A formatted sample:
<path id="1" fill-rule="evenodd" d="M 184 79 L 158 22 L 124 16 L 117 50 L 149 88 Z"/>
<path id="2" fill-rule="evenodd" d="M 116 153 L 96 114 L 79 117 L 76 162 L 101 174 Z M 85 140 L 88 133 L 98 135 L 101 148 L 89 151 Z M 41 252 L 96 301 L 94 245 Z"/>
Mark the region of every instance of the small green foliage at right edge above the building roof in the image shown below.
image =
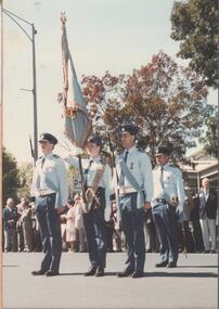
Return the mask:
<path id="1" fill-rule="evenodd" d="M 218 111 L 215 108 L 212 116 L 206 119 L 207 127 L 205 136 L 199 138 L 207 154 L 218 157 Z"/>

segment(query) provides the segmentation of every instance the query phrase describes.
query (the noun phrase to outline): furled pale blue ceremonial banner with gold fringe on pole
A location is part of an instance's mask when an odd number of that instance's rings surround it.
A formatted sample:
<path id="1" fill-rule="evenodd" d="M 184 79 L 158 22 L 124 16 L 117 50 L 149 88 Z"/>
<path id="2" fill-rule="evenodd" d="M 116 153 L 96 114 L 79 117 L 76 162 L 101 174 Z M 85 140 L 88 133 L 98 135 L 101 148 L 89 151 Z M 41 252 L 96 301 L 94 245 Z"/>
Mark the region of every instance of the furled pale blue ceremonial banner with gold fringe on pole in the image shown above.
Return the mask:
<path id="1" fill-rule="evenodd" d="M 87 112 L 82 91 L 80 89 L 73 59 L 68 49 L 66 33 L 66 16 L 61 15 L 62 21 L 62 61 L 64 89 L 62 101 L 64 102 L 65 136 L 77 147 L 83 149 L 92 130 L 92 123 Z"/>

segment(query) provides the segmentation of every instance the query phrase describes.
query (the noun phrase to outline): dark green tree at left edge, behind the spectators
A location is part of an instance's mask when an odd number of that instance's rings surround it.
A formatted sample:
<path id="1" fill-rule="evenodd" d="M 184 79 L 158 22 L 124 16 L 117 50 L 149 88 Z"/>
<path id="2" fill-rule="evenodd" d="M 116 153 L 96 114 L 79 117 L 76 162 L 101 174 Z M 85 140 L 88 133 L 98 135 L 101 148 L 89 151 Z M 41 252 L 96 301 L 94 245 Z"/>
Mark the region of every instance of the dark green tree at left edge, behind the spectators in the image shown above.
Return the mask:
<path id="1" fill-rule="evenodd" d="M 17 189 L 20 188 L 18 168 L 16 159 L 11 153 L 3 149 L 2 159 L 2 197 L 3 205 L 9 197 L 17 199 Z"/>

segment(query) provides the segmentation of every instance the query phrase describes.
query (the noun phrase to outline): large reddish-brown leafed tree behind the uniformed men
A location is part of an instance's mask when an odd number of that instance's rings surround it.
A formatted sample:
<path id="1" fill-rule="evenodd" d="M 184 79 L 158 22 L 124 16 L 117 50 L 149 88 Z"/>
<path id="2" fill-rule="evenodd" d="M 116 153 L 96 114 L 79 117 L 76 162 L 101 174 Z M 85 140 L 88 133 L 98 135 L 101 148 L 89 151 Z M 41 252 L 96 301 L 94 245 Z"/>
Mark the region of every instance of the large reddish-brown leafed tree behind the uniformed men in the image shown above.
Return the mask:
<path id="1" fill-rule="evenodd" d="M 166 143 L 172 146 L 176 159 L 182 159 L 186 147 L 195 145 L 193 138 L 199 137 L 204 119 L 211 113 L 204 81 L 163 51 L 131 75 L 87 76 L 82 85 L 95 130 L 113 130 L 118 146 L 119 126 L 133 121 L 141 128 L 143 145 L 152 155 L 155 146 Z"/>

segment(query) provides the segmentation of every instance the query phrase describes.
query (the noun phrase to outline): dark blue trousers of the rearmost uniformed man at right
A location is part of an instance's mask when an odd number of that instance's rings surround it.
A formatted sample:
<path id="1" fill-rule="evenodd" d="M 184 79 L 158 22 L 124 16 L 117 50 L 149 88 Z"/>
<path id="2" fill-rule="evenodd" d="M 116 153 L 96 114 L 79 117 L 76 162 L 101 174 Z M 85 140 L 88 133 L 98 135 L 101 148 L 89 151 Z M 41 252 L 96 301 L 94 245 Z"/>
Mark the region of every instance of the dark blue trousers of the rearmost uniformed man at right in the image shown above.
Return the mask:
<path id="1" fill-rule="evenodd" d="M 152 208 L 152 214 L 160 244 L 162 261 L 177 263 L 179 237 L 175 208 L 168 204 L 157 203 Z"/>

